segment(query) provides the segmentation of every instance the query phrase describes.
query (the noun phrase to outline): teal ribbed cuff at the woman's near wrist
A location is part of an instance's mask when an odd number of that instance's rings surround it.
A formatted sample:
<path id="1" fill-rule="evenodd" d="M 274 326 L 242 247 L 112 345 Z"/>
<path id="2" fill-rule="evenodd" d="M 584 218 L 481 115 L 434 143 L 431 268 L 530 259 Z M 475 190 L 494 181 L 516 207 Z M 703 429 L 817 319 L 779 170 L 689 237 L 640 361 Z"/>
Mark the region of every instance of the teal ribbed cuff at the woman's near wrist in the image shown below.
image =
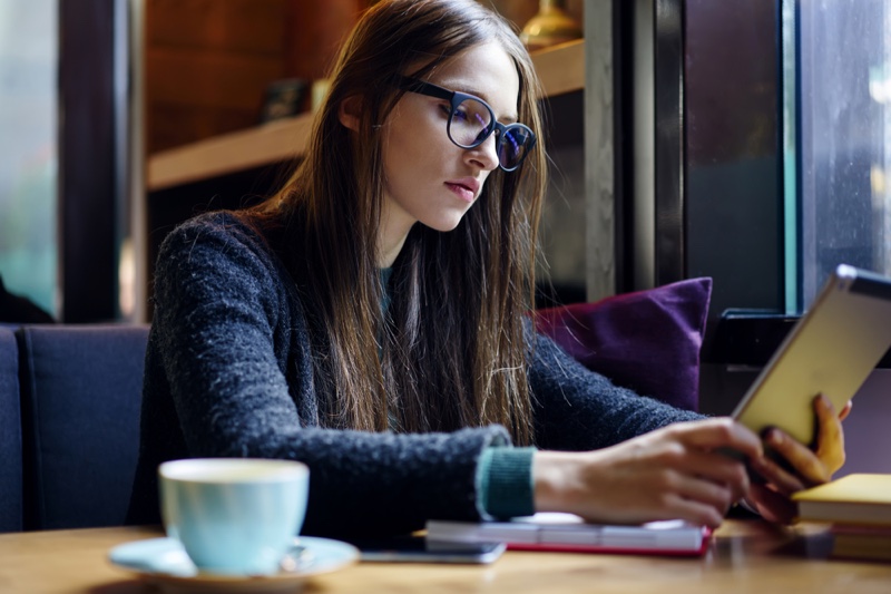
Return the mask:
<path id="1" fill-rule="evenodd" d="M 477 484 L 482 509 L 493 518 L 535 514 L 532 455 L 536 448 L 490 447 L 480 456 Z"/>

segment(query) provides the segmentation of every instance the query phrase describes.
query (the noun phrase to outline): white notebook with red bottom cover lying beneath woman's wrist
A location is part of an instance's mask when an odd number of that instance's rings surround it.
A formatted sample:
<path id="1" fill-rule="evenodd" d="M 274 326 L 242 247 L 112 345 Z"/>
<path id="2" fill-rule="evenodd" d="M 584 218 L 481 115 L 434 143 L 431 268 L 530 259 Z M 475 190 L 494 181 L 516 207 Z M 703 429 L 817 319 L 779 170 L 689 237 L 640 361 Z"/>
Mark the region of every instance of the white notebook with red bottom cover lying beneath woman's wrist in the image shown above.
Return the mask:
<path id="1" fill-rule="evenodd" d="M 681 520 L 613 526 L 588 524 L 579 516 L 559 513 L 539 513 L 506 522 L 427 523 L 428 541 L 506 543 L 515 551 L 695 556 L 705 553 L 709 538 L 708 528 Z"/>

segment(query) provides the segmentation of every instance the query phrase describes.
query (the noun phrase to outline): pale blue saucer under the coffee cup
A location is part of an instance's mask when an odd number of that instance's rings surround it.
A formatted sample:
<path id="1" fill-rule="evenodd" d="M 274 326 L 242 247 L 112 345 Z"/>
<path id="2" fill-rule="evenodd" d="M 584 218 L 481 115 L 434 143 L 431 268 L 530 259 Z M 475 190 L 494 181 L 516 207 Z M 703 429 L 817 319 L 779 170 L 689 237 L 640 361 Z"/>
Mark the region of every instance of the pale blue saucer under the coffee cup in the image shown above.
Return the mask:
<path id="1" fill-rule="evenodd" d="M 301 536 L 294 546 L 301 553 L 292 564 L 293 569 L 262 576 L 202 573 L 174 538 L 149 538 L 116 546 L 108 553 L 108 561 L 167 592 L 295 592 L 307 577 L 359 561 L 359 549 L 340 541 Z"/>

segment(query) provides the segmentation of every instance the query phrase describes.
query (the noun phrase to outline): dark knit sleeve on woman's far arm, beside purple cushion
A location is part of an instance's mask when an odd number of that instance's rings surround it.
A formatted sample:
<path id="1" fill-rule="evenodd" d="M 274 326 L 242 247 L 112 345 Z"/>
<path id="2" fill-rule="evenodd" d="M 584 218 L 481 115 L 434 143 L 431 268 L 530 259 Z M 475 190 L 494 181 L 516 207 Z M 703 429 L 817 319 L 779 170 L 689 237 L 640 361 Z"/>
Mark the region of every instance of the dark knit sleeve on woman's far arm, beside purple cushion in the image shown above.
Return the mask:
<path id="1" fill-rule="evenodd" d="M 599 449 L 673 422 L 704 418 L 615 386 L 549 338 L 533 335 L 528 374 L 536 445 L 541 449 Z"/>

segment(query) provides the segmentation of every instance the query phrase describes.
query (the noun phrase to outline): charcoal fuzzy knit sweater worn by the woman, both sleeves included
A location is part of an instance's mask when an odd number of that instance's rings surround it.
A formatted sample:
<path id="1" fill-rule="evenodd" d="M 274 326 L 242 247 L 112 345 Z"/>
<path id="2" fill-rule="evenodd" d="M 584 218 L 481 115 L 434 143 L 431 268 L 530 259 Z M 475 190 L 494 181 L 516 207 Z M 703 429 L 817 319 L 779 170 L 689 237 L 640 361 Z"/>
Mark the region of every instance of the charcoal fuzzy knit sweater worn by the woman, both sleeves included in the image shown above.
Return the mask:
<path id="1" fill-rule="evenodd" d="M 311 469 L 304 533 L 404 533 L 479 519 L 477 465 L 500 426 L 398 435 L 320 427 L 306 317 L 294 282 L 231 213 L 164 242 L 146 353 L 139 464 L 128 522 L 159 522 L 157 467 L 185 457 L 291 458 Z M 697 415 L 593 373 L 541 335 L 528 377 L 536 444 L 596 449 Z"/>

